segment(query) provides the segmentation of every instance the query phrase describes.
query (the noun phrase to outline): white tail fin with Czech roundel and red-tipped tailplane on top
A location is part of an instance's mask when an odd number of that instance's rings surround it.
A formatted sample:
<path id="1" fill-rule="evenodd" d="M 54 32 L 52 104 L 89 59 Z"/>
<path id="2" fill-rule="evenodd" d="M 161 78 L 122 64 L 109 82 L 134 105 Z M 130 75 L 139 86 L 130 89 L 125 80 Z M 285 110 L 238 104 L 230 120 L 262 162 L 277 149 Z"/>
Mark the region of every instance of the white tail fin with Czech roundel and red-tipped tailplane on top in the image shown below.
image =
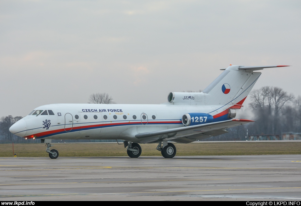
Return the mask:
<path id="1" fill-rule="evenodd" d="M 203 92 L 206 96 L 206 105 L 227 105 L 229 103 L 241 107 L 247 95 L 258 80 L 261 72 L 253 72 L 254 70 L 262 70 L 271 67 L 287 67 L 280 66 L 229 66 L 221 73 Z"/>

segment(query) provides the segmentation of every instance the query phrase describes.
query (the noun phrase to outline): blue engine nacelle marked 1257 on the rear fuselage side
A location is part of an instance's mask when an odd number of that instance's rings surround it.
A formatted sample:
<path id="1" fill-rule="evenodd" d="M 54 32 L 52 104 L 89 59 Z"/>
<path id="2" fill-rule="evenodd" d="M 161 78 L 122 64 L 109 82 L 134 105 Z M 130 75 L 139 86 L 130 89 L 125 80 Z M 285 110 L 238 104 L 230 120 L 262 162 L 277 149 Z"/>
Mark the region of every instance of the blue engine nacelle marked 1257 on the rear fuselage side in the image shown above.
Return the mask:
<path id="1" fill-rule="evenodd" d="M 182 117 L 182 123 L 185 126 L 192 126 L 197 124 L 205 124 L 213 121 L 213 116 L 206 113 L 187 113 Z"/>

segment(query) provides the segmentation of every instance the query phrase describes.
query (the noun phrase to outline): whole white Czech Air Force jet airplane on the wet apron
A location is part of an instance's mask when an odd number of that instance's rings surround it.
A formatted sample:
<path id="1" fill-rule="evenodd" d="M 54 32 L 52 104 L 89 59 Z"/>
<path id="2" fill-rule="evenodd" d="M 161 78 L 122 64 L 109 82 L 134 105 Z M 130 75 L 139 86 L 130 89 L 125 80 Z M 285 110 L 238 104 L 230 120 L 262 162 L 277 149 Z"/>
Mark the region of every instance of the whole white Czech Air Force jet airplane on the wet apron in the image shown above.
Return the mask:
<path id="1" fill-rule="evenodd" d="M 173 158 L 172 142 L 190 143 L 227 133 L 227 128 L 253 122 L 234 119 L 264 68 L 231 65 L 202 92 L 170 92 L 160 105 L 49 104 L 35 108 L 9 131 L 25 139 L 41 139 L 51 159 L 52 139 L 123 139 L 130 158 L 139 144 L 158 143 L 164 158 Z"/>

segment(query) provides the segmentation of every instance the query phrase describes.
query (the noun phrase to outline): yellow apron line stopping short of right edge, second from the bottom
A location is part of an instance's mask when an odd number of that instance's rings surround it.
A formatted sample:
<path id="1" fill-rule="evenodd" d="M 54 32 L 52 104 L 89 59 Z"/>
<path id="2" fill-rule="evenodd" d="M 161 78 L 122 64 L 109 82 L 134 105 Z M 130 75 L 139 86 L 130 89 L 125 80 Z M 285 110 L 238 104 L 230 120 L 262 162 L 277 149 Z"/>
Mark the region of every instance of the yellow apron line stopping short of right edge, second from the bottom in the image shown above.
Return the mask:
<path id="1" fill-rule="evenodd" d="M 232 179 L 232 178 L 223 178 Z M 168 182 L 168 181 L 201 181 L 201 180 L 222 180 L 222 179 L 173 179 L 173 180 L 132 180 L 132 181 L 107 181 L 107 182 L 73 182 L 73 183 L 24 183 L 24 184 L 0 184 L 0 186 L 8 185 L 52 185 L 52 184 L 81 184 L 81 183 L 135 183 L 135 182 Z"/>

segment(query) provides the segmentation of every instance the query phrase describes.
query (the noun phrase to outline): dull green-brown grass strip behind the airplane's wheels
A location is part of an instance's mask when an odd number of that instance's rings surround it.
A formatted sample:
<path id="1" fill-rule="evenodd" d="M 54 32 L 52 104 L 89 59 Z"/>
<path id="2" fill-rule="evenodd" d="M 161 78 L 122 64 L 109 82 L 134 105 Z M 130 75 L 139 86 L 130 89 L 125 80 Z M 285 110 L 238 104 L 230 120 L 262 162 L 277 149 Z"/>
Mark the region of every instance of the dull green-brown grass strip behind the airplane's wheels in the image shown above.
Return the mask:
<path id="1" fill-rule="evenodd" d="M 178 156 L 301 154 L 301 142 L 192 142 L 174 143 Z M 54 143 L 60 157 L 127 156 L 123 144 L 117 143 Z M 157 144 L 141 144 L 141 156 L 161 156 Z M 17 157 L 48 157 L 45 144 L 14 144 Z M 13 157 L 12 144 L 0 144 L 0 157 Z"/>

